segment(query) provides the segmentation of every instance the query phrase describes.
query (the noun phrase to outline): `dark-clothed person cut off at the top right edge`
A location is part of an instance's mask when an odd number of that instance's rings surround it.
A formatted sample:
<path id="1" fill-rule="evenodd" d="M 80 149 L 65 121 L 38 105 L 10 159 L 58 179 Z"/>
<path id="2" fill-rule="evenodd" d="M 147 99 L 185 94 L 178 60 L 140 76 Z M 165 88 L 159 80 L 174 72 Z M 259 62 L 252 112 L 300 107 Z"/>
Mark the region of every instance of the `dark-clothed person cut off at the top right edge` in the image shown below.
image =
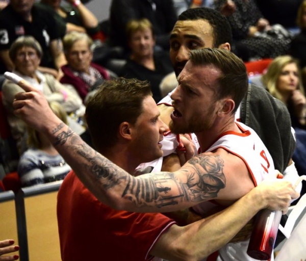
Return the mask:
<path id="1" fill-rule="evenodd" d="M 291 41 L 290 54 L 298 59 L 299 65 L 304 68 L 306 67 L 306 1 L 303 1 L 298 9 L 296 23 L 300 33 Z"/>

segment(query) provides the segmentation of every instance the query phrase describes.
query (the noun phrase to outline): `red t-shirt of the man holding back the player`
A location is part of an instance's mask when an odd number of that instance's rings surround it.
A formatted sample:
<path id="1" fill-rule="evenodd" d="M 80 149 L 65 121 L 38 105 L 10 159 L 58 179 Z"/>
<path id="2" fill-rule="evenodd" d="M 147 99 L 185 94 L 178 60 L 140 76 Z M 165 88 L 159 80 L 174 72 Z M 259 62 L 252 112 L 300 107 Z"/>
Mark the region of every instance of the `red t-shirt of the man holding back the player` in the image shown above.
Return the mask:
<path id="1" fill-rule="evenodd" d="M 160 213 L 117 211 L 99 202 L 71 171 L 58 193 L 63 261 L 149 260 L 149 251 L 175 222 Z"/>

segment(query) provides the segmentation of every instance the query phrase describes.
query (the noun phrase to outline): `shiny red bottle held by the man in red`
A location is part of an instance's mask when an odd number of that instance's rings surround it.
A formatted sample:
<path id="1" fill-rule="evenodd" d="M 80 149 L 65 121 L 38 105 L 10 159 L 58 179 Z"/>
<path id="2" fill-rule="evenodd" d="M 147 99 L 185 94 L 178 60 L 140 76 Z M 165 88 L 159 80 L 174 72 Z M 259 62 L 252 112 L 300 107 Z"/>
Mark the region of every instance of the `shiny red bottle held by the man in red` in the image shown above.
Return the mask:
<path id="1" fill-rule="evenodd" d="M 274 248 L 282 212 L 261 210 L 255 219 L 247 254 L 258 260 L 268 260 Z"/>

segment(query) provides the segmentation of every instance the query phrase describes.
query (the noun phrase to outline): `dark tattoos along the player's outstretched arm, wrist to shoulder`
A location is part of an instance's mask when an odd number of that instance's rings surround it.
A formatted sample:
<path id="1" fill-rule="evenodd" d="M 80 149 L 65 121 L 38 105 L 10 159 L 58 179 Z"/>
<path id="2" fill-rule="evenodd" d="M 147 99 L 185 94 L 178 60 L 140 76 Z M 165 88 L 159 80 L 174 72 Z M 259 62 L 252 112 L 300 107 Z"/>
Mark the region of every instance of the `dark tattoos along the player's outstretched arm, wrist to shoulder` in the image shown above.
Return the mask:
<path id="1" fill-rule="evenodd" d="M 103 193 L 121 186 L 121 197 L 137 206 L 160 208 L 180 202 L 206 201 L 216 198 L 219 191 L 225 188 L 224 161 L 220 155 L 202 153 L 189 160 L 178 172 L 158 172 L 134 177 L 94 151 L 71 129 L 61 131 L 62 127 L 60 124 L 54 129 L 54 133 L 59 132 L 55 145 L 67 142 L 69 149 L 85 160 L 83 166 L 78 166 L 79 173 L 83 171 L 95 179 L 103 188 Z M 82 164 L 79 157 L 75 161 Z"/>

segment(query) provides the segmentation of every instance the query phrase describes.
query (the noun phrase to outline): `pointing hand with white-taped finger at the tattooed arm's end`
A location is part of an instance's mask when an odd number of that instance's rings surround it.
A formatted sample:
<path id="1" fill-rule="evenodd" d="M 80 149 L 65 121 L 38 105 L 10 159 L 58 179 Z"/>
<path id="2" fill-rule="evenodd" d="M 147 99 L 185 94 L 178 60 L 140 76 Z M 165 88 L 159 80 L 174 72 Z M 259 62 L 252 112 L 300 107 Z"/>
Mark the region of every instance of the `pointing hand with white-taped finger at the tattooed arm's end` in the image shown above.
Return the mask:
<path id="1" fill-rule="evenodd" d="M 43 132 L 47 124 L 60 121 L 50 109 L 48 101 L 41 91 L 14 73 L 6 72 L 4 76 L 25 91 L 17 93 L 13 101 L 14 113 L 25 123 L 37 131 Z"/>

